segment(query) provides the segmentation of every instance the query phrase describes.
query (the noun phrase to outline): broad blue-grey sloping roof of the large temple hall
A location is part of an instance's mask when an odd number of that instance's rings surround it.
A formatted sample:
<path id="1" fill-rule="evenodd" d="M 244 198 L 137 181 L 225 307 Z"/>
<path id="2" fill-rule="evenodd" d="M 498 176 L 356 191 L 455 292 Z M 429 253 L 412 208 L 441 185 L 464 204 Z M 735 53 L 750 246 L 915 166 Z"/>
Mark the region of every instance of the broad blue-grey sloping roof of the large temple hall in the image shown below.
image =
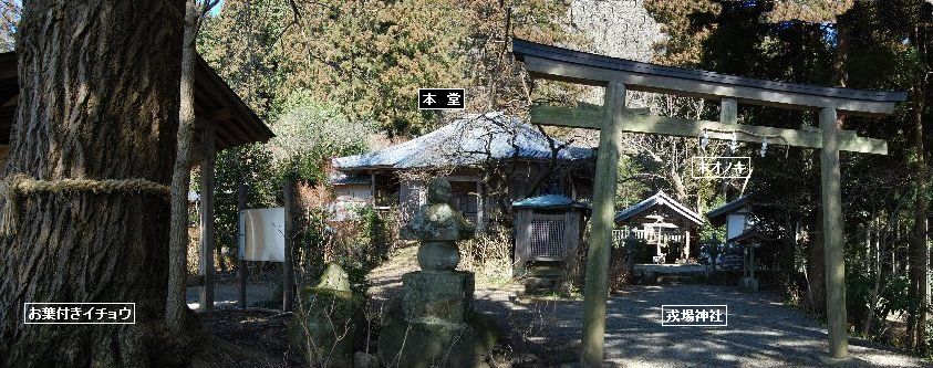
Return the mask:
<path id="1" fill-rule="evenodd" d="M 556 141 L 561 145 L 562 141 Z M 336 169 L 411 169 L 478 165 L 488 159 L 547 160 L 551 148 L 538 128 L 501 113 L 469 115 L 415 139 L 384 149 L 333 159 Z M 566 147 L 558 159 L 594 157 L 594 150 Z"/>

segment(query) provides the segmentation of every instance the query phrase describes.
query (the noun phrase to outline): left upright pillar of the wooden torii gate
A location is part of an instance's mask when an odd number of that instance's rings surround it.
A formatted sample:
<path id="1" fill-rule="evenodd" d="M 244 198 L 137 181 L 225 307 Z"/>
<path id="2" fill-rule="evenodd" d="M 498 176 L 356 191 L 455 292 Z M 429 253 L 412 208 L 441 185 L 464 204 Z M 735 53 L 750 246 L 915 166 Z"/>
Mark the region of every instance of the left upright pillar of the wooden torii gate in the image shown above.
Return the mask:
<path id="1" fill-rule="evenodd" d="M 609 251 L 615 215 L 620 136 L 625 119 L 625 85 L 619 82 L 609 83 L 605 86 L 604 99 L 605 120 L 600 129 L 600 148 L 593 183 L 593 223 L 583 288 L 583 353 L 580 364 L 584 367 L 601 367 L 605 353 Z"/>

